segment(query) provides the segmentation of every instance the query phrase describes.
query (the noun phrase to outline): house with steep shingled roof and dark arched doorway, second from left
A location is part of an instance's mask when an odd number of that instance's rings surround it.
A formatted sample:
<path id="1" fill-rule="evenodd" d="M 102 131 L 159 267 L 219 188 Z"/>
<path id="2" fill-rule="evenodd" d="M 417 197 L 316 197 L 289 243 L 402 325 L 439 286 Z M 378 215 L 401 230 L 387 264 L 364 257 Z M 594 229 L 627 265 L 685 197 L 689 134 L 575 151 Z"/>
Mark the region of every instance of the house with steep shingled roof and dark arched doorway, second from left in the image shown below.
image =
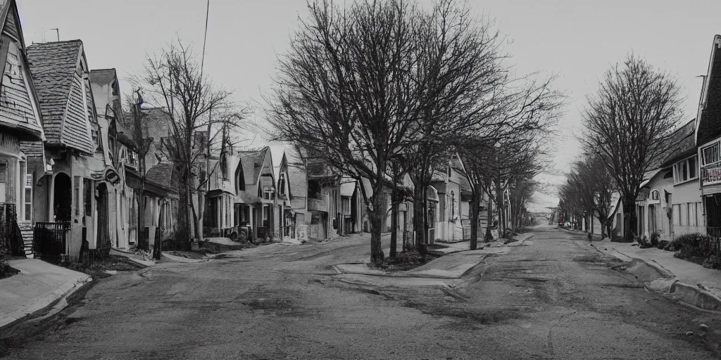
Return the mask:
<path id="1" fill-rule="evenodd" d="M 77 258 L 84 244 L 91 251 L 109 248 L 109 194 L 118 176 L 107 168 L 83 43 L 33 44 L 27 47 L 27 58 L 52 169 L 35 181 L 37 249 Z M 43 166 L 36 163 L 35 168 Z"/>

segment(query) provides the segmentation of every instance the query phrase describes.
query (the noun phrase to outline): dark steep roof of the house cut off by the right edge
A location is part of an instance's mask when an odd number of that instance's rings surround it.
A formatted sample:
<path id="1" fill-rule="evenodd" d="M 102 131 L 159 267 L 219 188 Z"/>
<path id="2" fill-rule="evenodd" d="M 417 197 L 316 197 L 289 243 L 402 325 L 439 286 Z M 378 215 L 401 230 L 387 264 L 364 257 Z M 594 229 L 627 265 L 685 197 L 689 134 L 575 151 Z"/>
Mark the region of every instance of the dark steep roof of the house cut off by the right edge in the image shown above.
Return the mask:
<path id="1" fill-rule="evenodd" d="M 721 135 L 721 35 L 714 37 L 709 70 L 699 106 L 696 143 L 704 145 Z"/>

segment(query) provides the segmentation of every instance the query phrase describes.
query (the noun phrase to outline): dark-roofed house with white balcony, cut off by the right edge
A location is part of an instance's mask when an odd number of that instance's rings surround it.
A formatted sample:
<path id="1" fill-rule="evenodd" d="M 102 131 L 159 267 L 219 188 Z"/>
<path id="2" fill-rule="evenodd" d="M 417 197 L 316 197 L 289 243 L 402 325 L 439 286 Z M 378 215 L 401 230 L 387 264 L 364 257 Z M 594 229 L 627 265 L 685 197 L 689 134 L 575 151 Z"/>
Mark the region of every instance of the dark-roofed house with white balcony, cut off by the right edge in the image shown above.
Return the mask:
<path id="1" fill-rule="evenodd" d="M 721 237 L 721 35 L 712 43 L 709 69 L 696 116 L 696 156 L 706 233 Z"/>

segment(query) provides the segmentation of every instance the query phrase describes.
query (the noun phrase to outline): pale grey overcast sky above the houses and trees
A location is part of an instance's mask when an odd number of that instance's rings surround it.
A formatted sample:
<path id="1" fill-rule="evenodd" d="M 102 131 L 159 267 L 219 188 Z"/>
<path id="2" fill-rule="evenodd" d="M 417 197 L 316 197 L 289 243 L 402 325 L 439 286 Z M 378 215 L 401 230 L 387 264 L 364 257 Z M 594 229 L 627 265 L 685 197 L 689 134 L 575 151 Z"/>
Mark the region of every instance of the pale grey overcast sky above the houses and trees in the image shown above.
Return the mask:
<path id="1" fill-rule="evenodd" d="M 345 0 L 349 2 L 351 0 Z M 427 4 L 428 0 L 420 0 Z M 141 73 L 147 54 L 178 37 L 200 55 L 205 0 L 22 0 L 17 1 L 25 42 L 84 42 L 90 68 L 116 68 L 121 91 Z M 341 1 L 342 2 L 342 1 Z M 673 73 L 686 97 L 686 120 L 696 116 L 712 40 L 721 33 L 718 0 L 469 0 L 473 11 L 496 20 L 517 73 L 557 76 L 554 87 L 567 96 L 553 135 L 554 166 L 544 181 L 559 184 L 578 156 L 585 96 L 598 88 L 609 67 L 629 53 Z M 211 0 L 205 72 L 234 91 L 236 102 L 260 109 L 273 84 L 278 55 L 288 48 L 304 0 Z M 51 30 L 57 28 L 56 30 Z M 59 33 L 59 34 L 58 34 Z M 264 124 L 257 111 L 249 121 Z M 681 124 L 679 124 L 681 125 Z M 255 138 L 253 143 L 262 142 Z M 537 193 L 531 210 L 554 206 L 553 189 Z"/>

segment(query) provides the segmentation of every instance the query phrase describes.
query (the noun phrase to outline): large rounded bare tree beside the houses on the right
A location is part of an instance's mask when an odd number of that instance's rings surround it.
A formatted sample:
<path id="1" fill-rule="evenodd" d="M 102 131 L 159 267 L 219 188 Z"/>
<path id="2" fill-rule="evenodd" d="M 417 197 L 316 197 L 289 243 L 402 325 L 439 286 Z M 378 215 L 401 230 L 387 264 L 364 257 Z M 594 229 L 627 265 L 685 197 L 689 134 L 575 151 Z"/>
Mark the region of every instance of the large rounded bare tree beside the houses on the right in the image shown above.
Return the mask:
<path id="1" fill-rule="evenodd" d="M 663 160 L 674 127 L 683 118 L 676 78 L 629 55 L 606 71 L 596 94 L 588 96 L 581 141 L 598 153 L 622 195 L 624 238 L 637 226 L 635 201 L 643 174 Z"/>

